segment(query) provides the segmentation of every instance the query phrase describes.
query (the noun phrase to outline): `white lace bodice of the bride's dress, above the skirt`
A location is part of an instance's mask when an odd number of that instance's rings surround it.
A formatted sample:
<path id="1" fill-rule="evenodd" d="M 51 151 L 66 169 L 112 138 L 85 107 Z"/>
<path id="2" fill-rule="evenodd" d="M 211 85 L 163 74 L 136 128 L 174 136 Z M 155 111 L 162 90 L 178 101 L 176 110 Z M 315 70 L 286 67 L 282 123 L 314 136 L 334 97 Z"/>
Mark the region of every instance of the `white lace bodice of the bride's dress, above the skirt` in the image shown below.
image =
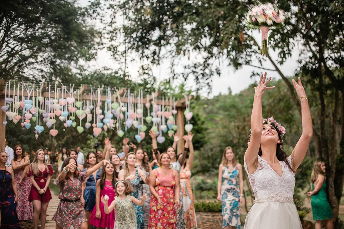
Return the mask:
<path id="1" fill-rule="evenodd" d="M 287 160 L 291 164 L 291 156 L 289 156 Z M 255 202 L 277 201 L 294 203 L 294 173 L 288 167 L 287 163 L 284 161 L 280 161 L 279 163 L 282 165 L 282 176 L 279 176 L 267 161 L 258 156 L 257 170 L 249 174 L 244 160 L 244 167 L 255 194 Z"/>

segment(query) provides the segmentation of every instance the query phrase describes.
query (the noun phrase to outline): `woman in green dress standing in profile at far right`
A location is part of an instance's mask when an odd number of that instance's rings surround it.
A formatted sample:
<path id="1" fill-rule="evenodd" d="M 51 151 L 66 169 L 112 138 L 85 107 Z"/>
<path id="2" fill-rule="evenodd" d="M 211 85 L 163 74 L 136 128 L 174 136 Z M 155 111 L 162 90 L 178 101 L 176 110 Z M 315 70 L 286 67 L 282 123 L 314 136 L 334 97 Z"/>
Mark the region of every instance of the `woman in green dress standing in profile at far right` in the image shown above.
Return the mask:
<path id="1" fill-rule="evenodd" d="M 313 219 L 316 220 L 315 229 L 322 228 L 322 220 L 326 220 L 326 229 L 333 229 L 333 213 L 326 197 L 325 163 L 316 161 L 313 165 L 311 177 L 311 192 L 307 196 L 312 196 Z"/>

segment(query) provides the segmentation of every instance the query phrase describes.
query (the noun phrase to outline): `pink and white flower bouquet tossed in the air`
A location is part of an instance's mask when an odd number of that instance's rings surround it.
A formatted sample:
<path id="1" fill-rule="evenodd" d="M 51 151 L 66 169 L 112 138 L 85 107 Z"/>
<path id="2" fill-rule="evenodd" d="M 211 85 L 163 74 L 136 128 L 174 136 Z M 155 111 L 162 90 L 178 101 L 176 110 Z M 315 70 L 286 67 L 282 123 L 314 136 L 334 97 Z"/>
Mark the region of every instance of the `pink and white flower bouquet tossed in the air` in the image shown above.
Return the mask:
<path id="1" fill-rule="evenodd" d="M 251 27 L 260 28 L 262 39 L 260 53 L 266 56 L 268 54 L 269 27 L 283 24 L 284 12 L 271 3 L 249 6 L 249 9 L 250 11 L 246 14 L 246 22 Z"/>

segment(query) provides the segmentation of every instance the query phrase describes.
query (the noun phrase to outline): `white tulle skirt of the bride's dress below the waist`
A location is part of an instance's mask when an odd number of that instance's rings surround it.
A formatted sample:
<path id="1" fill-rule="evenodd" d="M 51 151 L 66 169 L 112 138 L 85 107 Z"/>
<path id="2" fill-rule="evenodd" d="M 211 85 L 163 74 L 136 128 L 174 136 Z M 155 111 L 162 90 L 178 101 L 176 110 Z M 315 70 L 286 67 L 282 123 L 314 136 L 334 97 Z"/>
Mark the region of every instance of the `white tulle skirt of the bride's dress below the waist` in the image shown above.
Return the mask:
<path id="1" fill-rule="evenodd" d="M 246 216 L 244 228 L 302 229 L 302 226 L 295 204 L 256 201 Z"/>

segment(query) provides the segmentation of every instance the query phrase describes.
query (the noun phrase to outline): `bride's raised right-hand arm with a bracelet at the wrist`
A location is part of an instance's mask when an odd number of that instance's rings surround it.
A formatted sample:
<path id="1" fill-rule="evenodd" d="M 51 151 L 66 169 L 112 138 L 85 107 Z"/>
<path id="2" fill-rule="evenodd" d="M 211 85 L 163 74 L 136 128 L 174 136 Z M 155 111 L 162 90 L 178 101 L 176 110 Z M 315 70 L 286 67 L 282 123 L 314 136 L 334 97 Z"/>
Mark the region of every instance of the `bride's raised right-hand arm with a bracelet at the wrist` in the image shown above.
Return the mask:
<path id="1" fill-rule="evenodd" d="M 301 79 L 299 77 L 299 83 L 297 83 L 294 79 L 292 81 L 296 93 L 301 101 L 302 135 L 291 154 L 292 169 L 297 170 L 306 155 L 309 143 L 312 139 L 313 126 L 308 99 L 302 86 Z"/>

